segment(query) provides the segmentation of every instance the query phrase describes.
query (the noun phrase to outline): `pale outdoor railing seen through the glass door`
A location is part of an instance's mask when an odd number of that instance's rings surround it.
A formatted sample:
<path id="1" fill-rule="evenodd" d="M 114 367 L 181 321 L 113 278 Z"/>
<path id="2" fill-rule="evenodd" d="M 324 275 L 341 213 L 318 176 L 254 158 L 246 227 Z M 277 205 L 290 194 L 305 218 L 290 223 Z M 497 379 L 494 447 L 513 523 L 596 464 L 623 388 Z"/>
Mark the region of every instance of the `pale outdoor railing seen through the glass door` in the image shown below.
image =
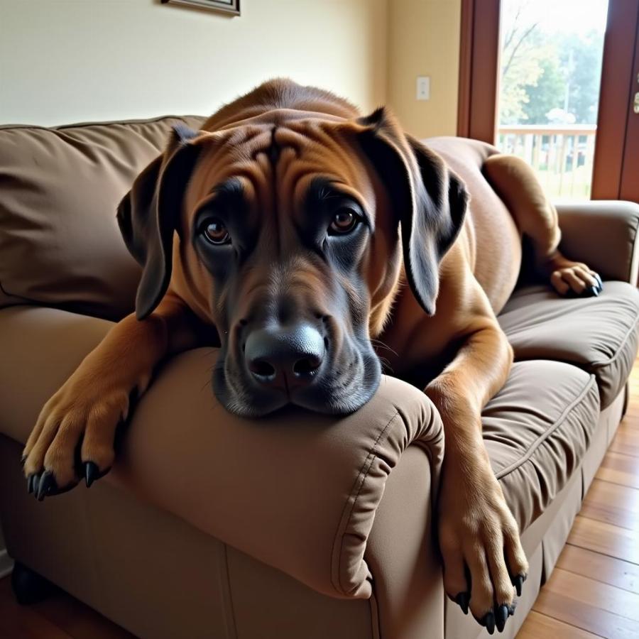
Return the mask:
<path id="1" fill-rule="evenodd" d="M 532 165 L 550 197 L 589 199 L 594 124 L 499 126 L 496 146 Z"/>

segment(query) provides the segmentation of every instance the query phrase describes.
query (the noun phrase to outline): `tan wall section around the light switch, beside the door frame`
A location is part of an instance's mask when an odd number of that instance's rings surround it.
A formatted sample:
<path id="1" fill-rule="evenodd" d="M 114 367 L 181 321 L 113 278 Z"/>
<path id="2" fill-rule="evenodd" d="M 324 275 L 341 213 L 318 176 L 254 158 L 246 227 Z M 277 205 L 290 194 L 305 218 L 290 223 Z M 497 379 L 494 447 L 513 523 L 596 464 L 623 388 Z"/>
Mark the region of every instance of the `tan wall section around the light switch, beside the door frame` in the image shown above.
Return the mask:
<path id="1" fill-rule="evenodd" d="M 386 102 L 418 138 L 457 133 L 461 0 L 388 0 Z M 430 100 L 417 102 L 418 75 Z"/>

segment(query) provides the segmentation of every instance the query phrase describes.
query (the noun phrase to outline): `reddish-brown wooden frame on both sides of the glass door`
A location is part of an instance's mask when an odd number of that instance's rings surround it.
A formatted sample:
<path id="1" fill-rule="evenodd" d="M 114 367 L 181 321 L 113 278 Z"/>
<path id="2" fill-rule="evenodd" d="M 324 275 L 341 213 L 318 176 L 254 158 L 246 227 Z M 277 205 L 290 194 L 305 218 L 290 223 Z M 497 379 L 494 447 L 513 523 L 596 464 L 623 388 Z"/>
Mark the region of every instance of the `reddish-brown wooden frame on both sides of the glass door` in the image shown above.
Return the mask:
<path id="1" fill-rule="evenodd" d="M 499 89 L 500 0 L 461 0 L 457 135 L 495 143 Z M 618 200 L 635 65 L 639 2 L 608 0 L 591 198 Z M 479 62 L 481 61 L 481 63 Z M 635 87 L 633 91 L 633 87 Z"/>

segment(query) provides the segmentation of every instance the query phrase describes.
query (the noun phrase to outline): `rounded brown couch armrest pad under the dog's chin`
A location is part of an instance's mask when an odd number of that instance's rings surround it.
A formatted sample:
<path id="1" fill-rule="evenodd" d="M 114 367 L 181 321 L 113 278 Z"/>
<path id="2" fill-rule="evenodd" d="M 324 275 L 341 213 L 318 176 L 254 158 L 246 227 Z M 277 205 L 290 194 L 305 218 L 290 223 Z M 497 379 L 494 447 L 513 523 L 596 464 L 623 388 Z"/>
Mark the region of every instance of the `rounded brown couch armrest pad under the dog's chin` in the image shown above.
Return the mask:
<path id="1" fill-rule="evenodd" d="M 216 356 L 198 349 L 165 366 L 136 408 L 110 480 L 316 591 L 367 598 L 366 542 L 386 479 L 410 444 L 430 464 L 430 489 L 413 490 L 434 503 L 437 410 L 417 388 L 384 377 L 352 415 L 288 410 L 244 420 L 210 391 Z"/>

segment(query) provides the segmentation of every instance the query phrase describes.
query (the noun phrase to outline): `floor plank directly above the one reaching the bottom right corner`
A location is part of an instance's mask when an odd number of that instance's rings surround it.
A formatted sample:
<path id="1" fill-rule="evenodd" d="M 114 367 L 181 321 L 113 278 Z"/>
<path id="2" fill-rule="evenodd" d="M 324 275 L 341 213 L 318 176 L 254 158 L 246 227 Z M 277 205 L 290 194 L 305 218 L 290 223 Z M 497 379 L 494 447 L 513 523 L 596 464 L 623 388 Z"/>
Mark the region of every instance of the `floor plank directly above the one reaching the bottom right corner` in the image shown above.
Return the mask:
<path id="1" fill-rule="evenodd" d="M 639 566 L 567 544 L 557 567 L 639 594 Z"/>

